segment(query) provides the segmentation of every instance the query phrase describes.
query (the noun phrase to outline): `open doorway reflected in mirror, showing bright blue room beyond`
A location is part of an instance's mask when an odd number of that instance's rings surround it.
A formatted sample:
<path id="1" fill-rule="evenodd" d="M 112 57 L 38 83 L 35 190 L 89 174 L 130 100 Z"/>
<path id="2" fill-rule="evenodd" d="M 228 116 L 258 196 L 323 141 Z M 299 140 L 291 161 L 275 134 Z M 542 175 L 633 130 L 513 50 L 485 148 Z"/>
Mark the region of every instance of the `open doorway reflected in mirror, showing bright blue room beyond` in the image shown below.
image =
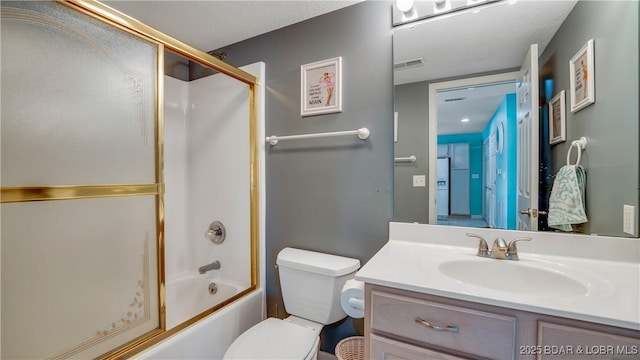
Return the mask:
<path id="1" fill-rule="evenodd" d="M 508 167 L 515 166 L 515 151 L 507 151 L 516 141 L 509 126 L 509 119 L 515 119 L 515 95 L 507 94 L 516 92 L 516 76 L 509 72 L 429 85 L 429 118 L 437 119 L 429 122 L 429 159 L 434 160 L 429 223 L 507 228 L 506 213 L 515 206 L 508 174 L 516 172 Z M 446 175 L 442 159 L 448 159 Z M 443 177 L 446 205 L 440 204 Z"/>

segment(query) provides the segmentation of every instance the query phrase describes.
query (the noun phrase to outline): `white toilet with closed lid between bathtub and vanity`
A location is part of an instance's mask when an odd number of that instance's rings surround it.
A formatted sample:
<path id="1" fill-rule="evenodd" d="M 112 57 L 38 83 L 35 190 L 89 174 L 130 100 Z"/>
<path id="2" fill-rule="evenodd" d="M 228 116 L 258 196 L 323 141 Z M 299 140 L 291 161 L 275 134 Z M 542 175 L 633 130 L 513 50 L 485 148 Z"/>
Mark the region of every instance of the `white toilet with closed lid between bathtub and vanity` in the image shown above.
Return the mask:
<path id="1" fill-rule="evenodd" d="M 224 359 L 315 360 L 324 325 L 344 319 L 342 287 L 360 260 L 284 248 L 276 260 L 286 319 L 268 318 L 240 335 Z"/>

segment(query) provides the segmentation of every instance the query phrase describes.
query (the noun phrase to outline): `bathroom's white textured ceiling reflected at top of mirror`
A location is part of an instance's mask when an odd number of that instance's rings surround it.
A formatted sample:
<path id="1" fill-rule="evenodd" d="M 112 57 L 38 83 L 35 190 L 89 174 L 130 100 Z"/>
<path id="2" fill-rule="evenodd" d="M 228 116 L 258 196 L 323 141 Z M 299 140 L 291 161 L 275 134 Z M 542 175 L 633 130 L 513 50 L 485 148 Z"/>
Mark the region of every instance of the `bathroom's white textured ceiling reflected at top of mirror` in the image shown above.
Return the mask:
<path id="1" fill-rule="evenodd" d="M 422 57 L 424 66 L 396 71 L 395 83 L 520 67 L 529 45 L 542 53 L 576 2 L 505 0 L 397 27 L 394 62 Z"/>

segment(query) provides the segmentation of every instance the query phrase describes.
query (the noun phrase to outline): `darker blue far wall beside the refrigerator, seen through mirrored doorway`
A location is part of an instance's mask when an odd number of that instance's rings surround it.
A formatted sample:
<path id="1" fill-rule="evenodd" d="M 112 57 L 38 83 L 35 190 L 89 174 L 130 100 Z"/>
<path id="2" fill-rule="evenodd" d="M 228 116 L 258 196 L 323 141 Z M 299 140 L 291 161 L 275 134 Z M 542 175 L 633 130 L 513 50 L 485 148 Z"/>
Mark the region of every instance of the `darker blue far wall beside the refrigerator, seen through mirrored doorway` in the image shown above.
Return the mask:
<path id="1" fill-rule="evenodd" d="M 469 213 L 482 215 L 482 142 L 481 133 L 438 135 L 438 144 L 469 144 Z M 474 175 L 475 176 L 474 178 Z"/>

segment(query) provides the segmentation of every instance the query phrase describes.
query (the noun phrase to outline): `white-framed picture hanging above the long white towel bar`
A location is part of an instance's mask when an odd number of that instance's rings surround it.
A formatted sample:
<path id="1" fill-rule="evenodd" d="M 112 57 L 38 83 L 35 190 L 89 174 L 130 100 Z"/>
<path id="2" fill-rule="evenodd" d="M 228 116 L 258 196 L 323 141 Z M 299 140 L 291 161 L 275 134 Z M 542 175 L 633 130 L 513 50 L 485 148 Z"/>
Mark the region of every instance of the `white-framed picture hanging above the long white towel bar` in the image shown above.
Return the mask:
<path id="1" fill-rule="evenodd" d="M 300 67 L 300 115 L 342 111 L 342 57 Z"/>

